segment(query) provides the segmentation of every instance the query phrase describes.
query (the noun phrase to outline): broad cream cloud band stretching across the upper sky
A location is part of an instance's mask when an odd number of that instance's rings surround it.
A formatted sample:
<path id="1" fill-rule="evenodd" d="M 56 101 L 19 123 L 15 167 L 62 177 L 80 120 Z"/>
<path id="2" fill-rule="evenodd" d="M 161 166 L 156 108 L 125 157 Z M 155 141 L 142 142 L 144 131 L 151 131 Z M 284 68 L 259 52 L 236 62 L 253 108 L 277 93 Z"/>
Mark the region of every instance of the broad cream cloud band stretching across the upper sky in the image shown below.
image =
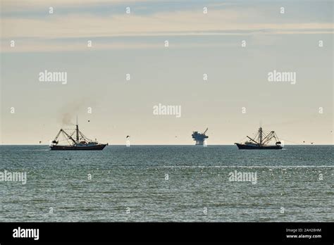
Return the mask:
<path id="1" fill-rule="evenodd" d="M 244 16 L 240 20 L 239 16 Z M 191 11 L 154 15 L 50 15 L 48 18 L 4 18 L 4 39 L 151 36 L 157 33 L 249 32 L 258 30 L 333 30 L 332 23 L 254 23 L 249 12 L 211 11 L 210 15 Z"/>

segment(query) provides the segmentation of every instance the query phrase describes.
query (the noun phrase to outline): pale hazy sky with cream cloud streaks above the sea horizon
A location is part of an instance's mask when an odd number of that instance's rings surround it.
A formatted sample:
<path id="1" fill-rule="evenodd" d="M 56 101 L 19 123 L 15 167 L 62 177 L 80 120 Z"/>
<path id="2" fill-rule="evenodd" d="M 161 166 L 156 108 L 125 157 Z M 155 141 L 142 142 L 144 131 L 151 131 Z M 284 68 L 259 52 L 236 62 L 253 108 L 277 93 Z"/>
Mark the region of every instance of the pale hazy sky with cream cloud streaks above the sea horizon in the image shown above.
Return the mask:
<path id="1" fill-rule="evenodd" d="M 76 115 L 111 145 L 194 144 L 206 127 L 233 144 L 260 124 L 333 144 L 333 1 L 2 0 L 0 47 L 1 144 L 49 144 Z"/>

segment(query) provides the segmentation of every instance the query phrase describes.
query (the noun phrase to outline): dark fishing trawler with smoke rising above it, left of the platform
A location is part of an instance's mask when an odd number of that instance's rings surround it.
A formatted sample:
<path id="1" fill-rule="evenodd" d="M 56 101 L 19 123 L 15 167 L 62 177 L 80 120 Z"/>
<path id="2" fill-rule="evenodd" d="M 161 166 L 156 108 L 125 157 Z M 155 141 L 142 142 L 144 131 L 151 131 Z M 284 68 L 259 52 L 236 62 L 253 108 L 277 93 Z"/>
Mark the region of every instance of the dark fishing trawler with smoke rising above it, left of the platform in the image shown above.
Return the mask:
<path id="1" fill-rule="evenodd" d="M 68 145 L 58 145 L 58 137 L 60 134 L 63 134 L 66 141 L 69 143 Z M 75 134 L 75 139 L 73 139 L 73 134 Z M 68 134 L 65 130 L 59 130 L 56 138 L 51 142 L 50 149 L 53 151 L 101 151 L 106 147 L 107 144 L 99 144 L 96 140 L 92 141 L 92 139 L 88 139 L 85 137 L 82 132 L 79 130 L 78 120 L 75 125 L 75 130 Z"/>

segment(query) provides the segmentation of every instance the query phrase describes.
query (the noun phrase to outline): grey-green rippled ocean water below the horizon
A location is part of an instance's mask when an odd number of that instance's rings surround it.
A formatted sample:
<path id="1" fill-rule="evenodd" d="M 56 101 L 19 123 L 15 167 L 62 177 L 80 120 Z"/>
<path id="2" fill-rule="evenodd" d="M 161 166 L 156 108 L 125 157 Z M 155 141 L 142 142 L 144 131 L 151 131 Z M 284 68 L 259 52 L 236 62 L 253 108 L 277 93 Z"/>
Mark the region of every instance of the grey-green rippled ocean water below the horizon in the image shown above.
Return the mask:
<path id="1" fill-rule="evenodd" d="M 0 172 L 27 174 L 25 184 L 0 182 L 0 220 L 333 222 L 333 149 L 0 146 Z M 231 172 L 253 178 L 231 181 Z"/>

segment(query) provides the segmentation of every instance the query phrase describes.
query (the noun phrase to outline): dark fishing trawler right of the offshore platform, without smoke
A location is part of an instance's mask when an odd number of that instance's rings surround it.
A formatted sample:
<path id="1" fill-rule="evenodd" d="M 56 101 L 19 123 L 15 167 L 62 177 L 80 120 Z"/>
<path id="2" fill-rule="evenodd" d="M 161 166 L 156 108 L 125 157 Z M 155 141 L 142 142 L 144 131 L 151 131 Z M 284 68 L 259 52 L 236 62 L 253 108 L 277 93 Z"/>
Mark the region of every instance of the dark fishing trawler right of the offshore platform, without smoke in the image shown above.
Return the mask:
<path id="1" fill-rule="evenodd" d="M 281 142 L 278 139 L 278 136 L 276 135 L 275 131 L 268 132 L 267 134 L 263 132 L 262 127 L 259 128 L 259 132 L 256 134 L 254 139 L 251 137 L 248 137 L 250 139 L 250 142 L 245 142 L 244 144 L 235 143 L 237 145 L 237 148 L 239 149 L 245 149 L 245 150 L 279 150 L 283 149 L 283 147 L 280 145 Z M 269 145 L 268 143 L 271 141 L 271 139 L 275 139 L 274 145 Z"/>

